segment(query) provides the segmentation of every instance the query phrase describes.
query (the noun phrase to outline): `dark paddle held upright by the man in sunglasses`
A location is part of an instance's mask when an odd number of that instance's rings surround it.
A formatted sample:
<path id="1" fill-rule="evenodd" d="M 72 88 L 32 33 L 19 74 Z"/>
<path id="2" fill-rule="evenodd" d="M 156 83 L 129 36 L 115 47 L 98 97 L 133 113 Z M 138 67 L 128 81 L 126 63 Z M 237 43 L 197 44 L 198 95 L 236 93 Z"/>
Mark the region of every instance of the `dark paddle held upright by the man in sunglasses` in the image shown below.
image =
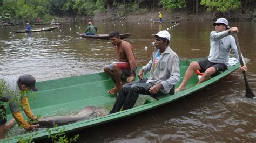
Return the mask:
<path id="1" fill-rule="evenodd" d="M 233 34 L 233 36 L 235 38 L 235 44 L 237 44 L 237 51 L 238 51 L 238 55 L 239 55 L 240 64 L 241 64 L 241 66 L 244 66 L 244 62 L 242 61 L 242 54 L 241 54 L 241 51 L 240 51 L 239 42 L 238 42 L 238 39 L 237 39 L 237 33 Z M 245 71 L 242 71 L 242 75 L 244 75 L 245 87 L 246 87 L 245 97 L 248 97 L 248 98 L 255 97 L 255 95 L 253 94 L 252 90 L 249 87 Z"/>

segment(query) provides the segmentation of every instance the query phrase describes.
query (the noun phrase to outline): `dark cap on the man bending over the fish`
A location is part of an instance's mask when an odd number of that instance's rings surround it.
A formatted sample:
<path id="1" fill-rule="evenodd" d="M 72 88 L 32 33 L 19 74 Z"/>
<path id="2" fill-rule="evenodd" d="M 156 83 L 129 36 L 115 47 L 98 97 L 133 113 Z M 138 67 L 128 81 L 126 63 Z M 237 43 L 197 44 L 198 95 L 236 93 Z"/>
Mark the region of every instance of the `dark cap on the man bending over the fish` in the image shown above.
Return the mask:
<path id="1" fill-rule="evenodd" d="M 26 85 L 27 87 L 30 87 L 33 91 L 38 90 L 36 87 L 36 78 L 30 74 L 24 74 L 19 76 L 19 82 Z"/>

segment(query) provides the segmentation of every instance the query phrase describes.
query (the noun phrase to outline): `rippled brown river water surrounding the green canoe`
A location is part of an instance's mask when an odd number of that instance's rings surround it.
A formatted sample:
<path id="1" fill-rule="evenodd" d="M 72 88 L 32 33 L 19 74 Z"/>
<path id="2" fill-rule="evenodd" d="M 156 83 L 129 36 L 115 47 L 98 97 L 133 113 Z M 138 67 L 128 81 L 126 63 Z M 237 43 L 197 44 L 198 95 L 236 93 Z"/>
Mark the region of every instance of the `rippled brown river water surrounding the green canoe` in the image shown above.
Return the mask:
<path id="1" fill-rule="evenodd" d="M 153 33 L 168 30 L 171 48 L 180 59 L 208 55 L 211 21 L 150 23 L 95 22 L 98 33 L 118 30 L 131 32 L 125 40 L 134 48 L 138 66 L 151 58 Z M 49 25 L 31 25 L 31 28 Z M 173 27 L 172 27 L 173 26 Z M 250 59 L 247 79 L 256 94 L 255 22 L 230 22 L 239 29 L 242 54 Z M 103 66 L 116 61 L 109 40 L 84 39 L 76 32 L 87 27 L 83 21 L 65 23 L 56 30 L 31 34 L 11 33 L 25 26 L 0 27 L 0 74 L 19 76 L 29 73 L 37 81 L 75 75 L 98 73 Z M 147 51 L 143 50 L 147 46 Z M 176 102 L 106 125 L 87 128 L 68 134 L 80 134 L 79 142 L 255 142 L 256 101 L 245 97 L 244 78 L 240 70 L 223 80 Z"/>

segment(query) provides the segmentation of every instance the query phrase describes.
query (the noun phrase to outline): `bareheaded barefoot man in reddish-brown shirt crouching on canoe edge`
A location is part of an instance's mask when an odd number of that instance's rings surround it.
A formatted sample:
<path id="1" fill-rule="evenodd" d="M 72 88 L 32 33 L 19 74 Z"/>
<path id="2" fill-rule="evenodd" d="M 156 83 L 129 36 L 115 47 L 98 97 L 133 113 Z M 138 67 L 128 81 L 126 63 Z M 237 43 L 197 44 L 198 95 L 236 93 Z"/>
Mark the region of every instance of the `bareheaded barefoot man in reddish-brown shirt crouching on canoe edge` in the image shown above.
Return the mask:
<path id="1" fill-rule="evenodd" d="M 127 41 L 121 40 L 119 32 L 111 31 L 109 33 L 109 39 L 114 46 L 114 51 L 117 53 L 119 62 L 106 65 L 103 69 L 116 82 L 116 86 L 108 92 L 110 94 L 116 94 L 125 84 L 125 81 L 121 80 L 121 75 L 130 75 L 126 81 L 133 81 L 136 76 L 137 62 L 132 45 Z"/>

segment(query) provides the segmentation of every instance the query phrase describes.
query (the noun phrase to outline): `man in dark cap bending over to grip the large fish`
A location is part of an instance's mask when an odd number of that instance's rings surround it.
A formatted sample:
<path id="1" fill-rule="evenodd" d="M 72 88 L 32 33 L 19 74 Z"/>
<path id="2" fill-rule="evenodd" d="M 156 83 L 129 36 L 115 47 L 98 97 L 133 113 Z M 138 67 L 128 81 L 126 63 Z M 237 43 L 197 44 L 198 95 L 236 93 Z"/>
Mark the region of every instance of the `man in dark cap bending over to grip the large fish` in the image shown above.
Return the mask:
<path id="1" fill-rule="evenodd" d="M 30 119 L 37 119 L 30 109 L 28 98 L 24 95 L 26 91 L 37 91 L 36 79 L 32 75 L 24 74 L 19 76 L 19 78 L 15 77 L 7 77 L 0 75 L 0 84 L 1 91 L 0 92 L 0 101 L 9 102 L 10 110 L 12 116 L 17 121 L 19 126 L 24 127 L 25 129 L 31 129 L 38 127 L 39 125 L 30 125 L 22 116 L 22 113 L 19 109 L 19 104 L 24 110 L 26 116 Z M 3 104 L 0 104 L 0 139 L 4 138 L 4 131 L 8 130 L 13 124 L 14 120 L 10 120 L 8 124 L 6 123 L 6 110 Z"/>

